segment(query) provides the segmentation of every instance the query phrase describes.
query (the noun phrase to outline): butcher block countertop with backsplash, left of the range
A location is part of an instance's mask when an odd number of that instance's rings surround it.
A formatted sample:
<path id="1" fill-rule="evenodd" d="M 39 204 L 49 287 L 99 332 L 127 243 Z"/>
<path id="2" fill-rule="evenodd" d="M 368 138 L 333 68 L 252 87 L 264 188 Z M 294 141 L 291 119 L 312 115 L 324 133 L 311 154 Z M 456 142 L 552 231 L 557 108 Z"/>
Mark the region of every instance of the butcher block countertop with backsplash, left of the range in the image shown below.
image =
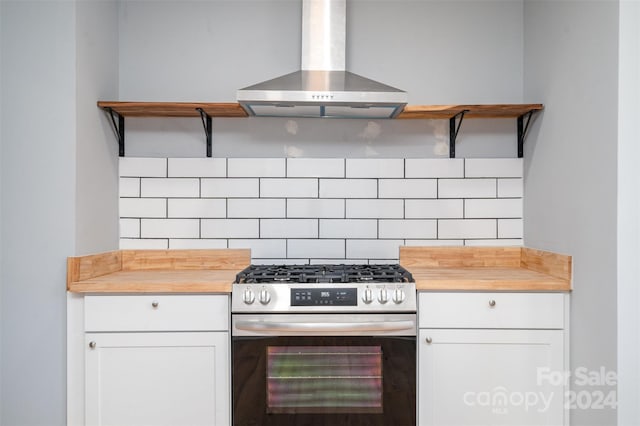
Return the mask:
<path id="1" fill-rule="evenodd" d="M 248 249 L 117 250 L 67 259 L 75 293 L 230 293 Z"/>

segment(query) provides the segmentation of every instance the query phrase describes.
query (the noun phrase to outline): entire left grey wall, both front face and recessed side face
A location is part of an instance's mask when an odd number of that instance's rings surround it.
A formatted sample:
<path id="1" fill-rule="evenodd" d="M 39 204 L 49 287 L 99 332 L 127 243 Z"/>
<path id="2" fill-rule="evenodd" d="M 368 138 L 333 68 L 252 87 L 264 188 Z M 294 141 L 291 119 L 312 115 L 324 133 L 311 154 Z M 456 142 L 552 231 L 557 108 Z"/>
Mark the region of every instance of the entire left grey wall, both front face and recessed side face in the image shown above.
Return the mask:
<path id="1" fill-rule="evenodd" d="M 117 248 L 117 154 L 95 111 L 117 96 L 116 12 L 2 1 L 3 425 L 66 423 L 66 257 Z"/>

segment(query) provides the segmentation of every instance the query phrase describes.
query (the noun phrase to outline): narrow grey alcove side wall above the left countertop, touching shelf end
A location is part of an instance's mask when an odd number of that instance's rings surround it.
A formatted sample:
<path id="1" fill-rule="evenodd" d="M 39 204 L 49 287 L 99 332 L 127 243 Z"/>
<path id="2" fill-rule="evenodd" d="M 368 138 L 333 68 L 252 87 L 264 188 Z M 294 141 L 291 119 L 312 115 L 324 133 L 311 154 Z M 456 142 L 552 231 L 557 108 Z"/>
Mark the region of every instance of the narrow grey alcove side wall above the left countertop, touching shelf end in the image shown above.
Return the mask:
<path id="1" fill-rule="evenodd" d="M 118 247 L 118 145 L 98 99 L 118 97 L 115 1 L 76 5 L 75 253 Z"/>

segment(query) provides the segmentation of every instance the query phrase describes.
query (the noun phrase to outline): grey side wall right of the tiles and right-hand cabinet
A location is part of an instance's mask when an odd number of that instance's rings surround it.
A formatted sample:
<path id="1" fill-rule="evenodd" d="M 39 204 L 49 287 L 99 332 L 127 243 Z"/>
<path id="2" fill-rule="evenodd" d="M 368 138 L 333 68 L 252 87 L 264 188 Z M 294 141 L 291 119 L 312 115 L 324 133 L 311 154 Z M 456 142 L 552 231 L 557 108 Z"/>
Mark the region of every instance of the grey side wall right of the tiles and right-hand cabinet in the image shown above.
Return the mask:
<path id="1" fill-rule="evenodd" d="M 525 144 L 525 245 L 573 256 L 572 369 L 615 371 L 618 3 L 527 0 L 524 40 L 525 99 L 545 104 Z"/>

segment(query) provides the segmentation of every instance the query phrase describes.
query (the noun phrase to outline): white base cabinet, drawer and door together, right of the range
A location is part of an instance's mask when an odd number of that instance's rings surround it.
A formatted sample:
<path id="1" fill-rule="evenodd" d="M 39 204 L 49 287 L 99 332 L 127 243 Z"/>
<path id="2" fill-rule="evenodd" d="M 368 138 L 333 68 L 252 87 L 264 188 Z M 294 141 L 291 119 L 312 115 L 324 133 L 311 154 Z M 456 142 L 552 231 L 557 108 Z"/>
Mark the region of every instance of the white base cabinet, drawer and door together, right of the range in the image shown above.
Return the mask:
<path id="1" fill-rule="evenodd" d="M 419 425 L 566 424 L 560 293 L 420 293 Z"/>

